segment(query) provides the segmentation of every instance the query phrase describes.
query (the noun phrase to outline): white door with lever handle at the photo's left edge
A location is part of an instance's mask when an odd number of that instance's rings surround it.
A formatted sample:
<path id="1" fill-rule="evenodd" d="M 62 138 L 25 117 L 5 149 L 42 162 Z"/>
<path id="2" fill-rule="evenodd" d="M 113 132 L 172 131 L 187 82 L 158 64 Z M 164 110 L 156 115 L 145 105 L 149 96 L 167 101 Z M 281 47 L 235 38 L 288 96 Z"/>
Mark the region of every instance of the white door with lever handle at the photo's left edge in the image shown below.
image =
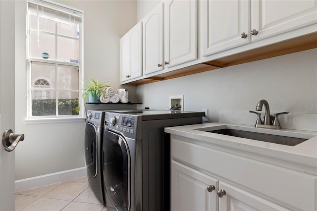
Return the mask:
<path id="1" fill-rule="evenodd" d="M 14 130 L 14 1 L 0 0 L 0 134 Z M 14 210 L 14 151 L 0 145 L 0 210 Z"/>

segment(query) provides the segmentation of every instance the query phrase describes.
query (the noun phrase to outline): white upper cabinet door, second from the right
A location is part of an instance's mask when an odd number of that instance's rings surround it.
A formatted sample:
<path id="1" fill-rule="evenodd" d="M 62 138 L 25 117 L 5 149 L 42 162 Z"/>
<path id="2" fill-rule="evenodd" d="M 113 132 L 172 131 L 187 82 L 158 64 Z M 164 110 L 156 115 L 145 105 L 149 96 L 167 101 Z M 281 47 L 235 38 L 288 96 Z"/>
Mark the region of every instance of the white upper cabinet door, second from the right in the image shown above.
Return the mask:
<path id="1" fill-rule="evenodd" d="M 204 56 L 251 42 L 250 0 L 204 0 Z"/>

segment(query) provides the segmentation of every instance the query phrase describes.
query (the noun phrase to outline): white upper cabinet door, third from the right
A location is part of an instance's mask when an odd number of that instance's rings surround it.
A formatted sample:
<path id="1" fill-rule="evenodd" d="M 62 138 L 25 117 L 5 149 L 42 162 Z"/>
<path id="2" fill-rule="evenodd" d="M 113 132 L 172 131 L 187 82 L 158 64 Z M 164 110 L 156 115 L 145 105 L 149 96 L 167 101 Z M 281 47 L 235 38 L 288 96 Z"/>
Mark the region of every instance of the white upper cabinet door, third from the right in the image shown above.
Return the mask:
<path id="1" fill-rule="evenodd" d="M 197 59 L 197 0 L 167 0 L 164 21 L 166 67 Z"/>

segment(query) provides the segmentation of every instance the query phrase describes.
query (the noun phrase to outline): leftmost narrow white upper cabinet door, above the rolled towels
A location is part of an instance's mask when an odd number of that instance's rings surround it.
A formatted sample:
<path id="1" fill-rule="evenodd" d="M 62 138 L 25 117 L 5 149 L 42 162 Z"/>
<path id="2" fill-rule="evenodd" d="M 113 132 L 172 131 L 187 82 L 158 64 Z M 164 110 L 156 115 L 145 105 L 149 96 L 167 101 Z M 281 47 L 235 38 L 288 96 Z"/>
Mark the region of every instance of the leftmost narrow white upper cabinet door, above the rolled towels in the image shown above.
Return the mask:
<path id="1" fill-rule="evenodd" d="M 126 81 L 130 75 L 129 32 L 120 39 L 120 80 Z"/>

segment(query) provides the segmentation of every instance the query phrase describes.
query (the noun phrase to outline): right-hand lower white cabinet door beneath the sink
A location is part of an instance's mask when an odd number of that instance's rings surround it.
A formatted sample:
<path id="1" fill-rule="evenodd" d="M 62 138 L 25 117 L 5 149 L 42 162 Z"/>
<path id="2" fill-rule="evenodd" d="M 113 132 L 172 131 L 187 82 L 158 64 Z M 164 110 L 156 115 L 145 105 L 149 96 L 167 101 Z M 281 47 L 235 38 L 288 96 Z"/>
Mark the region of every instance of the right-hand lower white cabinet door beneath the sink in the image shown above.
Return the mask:
<path id="1" fill-rule="evenodd" d="M 236 186 L 219 182 L 219 190 L 224 190 L 226 194 L 219 197 L 219 211 L 286 211 L 274 203 L 264 200 Z"/>

